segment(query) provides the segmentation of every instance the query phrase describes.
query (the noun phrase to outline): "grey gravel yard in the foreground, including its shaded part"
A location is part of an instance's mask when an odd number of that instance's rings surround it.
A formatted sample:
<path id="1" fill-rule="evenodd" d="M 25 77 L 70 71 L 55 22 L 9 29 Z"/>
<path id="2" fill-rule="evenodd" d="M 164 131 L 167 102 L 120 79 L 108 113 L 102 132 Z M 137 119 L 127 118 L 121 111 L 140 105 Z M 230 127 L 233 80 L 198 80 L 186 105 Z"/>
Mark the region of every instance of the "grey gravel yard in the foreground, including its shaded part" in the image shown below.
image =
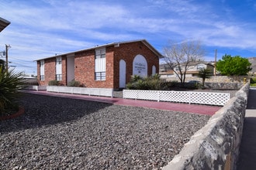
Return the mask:
<path id="1" fill-rule="evenodd" d="M 0 169 L 154 169 L 167 165 L 207 115 L 27 93 L 0 121 Z"/>

